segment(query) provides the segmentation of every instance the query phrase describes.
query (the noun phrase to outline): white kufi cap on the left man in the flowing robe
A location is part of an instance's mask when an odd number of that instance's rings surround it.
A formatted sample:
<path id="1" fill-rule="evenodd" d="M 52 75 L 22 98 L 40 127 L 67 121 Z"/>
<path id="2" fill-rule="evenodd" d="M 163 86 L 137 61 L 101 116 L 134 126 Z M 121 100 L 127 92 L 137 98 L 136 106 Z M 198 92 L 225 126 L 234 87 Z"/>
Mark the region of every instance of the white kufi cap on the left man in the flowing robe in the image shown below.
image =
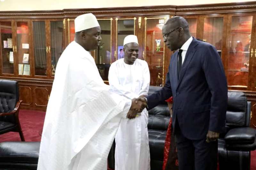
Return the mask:
<path id="1" fill-rule="evenodd" d="M 75 32 L 83 31 L 97 26 L 100 26 L 100 24 L 92 13 L 79 15 L 75 19 Z"/>

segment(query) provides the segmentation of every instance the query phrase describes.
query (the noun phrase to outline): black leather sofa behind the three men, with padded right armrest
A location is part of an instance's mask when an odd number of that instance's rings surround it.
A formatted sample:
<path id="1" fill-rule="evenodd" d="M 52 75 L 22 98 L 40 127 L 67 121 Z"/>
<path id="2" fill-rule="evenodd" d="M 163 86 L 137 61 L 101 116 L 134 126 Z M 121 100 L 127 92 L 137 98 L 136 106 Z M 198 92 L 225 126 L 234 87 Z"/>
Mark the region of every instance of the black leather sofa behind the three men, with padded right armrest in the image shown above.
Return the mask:
<path id="1" fill-rule="evenodd" d="M 148 94 L 161 87 L 150 86 Z M 218 140 L 220 170 L 250 170 L 251 151 L 256 147 L 256 130 L 250 128 L 251 102 L 243 92 L 228 91 L 226 115 L 227 132 Z M 150 166 L 152 170 L 162 170 L 164 142 L 170 120 L 166 102 L 148 111 L 148 138 Z M 115 143 L 109 153 L 109 167 L 115 167 Z"/>

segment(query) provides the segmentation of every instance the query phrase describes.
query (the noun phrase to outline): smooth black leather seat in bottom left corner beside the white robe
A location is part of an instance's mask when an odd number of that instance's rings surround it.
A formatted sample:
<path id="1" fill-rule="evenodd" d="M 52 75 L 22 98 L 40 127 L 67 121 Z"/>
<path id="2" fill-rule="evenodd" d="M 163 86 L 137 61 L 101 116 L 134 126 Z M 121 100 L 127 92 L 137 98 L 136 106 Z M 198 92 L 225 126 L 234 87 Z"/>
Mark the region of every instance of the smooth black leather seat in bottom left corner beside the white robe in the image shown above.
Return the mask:
<path id="1" fill-rule="evenodd" d="M 38 162 L 40 142 L 0 143 L 0 164 L 33 164 Z"/>

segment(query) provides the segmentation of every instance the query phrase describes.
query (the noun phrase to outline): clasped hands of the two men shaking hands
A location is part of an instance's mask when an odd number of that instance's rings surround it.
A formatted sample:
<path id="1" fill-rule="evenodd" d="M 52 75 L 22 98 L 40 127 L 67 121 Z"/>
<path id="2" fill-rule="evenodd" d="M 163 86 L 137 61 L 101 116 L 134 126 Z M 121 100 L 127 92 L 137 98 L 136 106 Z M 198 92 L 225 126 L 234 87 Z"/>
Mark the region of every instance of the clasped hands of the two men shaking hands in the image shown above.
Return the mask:
<path id="1" fill-rule="evenodd" d="M 133 119 L 136 117 L 137 113 L 142 112 L 142 110 L 147 106 L 147 101 L 143 95 L 138 98 L 132 99 L 132 106 L 130 107 L 129 112 L 127 113 L 128 119 Z"/>

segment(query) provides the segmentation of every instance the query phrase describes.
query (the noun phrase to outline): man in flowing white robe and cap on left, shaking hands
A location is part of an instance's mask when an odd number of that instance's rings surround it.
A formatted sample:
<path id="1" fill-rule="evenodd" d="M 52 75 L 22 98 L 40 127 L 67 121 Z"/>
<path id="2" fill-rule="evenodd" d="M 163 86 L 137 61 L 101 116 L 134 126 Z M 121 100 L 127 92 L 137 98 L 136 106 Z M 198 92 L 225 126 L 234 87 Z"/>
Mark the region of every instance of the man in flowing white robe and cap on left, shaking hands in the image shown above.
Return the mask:
<path id="1" fill-rule="evenodd" d="M 96 17 L 78 16 L 75 32 L 57 64 L 38 170 L 106 170 L 121 118 L 134 118 L 146 106 L 143 99 L 127 100 L 112 92 L 101 79 L 89 52 L 101 41 Z"/>

